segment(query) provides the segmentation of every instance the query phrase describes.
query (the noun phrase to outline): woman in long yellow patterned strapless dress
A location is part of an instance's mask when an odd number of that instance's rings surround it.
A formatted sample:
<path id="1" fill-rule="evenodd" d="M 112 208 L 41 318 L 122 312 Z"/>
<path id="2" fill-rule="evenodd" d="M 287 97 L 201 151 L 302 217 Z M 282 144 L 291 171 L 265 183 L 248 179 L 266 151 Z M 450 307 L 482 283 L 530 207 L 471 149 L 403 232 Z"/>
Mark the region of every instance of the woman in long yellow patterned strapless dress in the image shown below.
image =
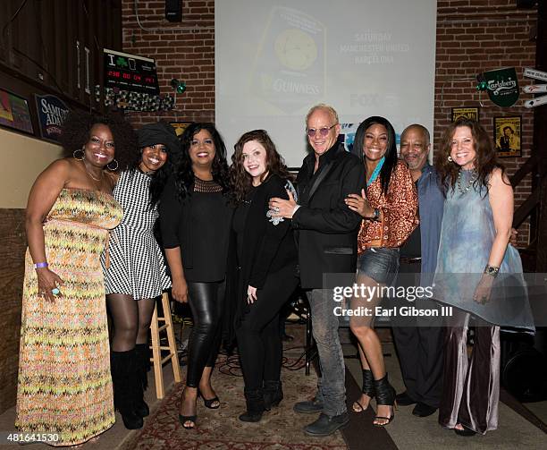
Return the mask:
<path id="1" fill-rule="evenodd" d="M 138 152 L 129 123 L 87 114 L 67 117 L 63 147 L 27 205 L 15 426 L 74 446 L 115 420 L 100 255 L 123 212 L 107 169 Z"/>

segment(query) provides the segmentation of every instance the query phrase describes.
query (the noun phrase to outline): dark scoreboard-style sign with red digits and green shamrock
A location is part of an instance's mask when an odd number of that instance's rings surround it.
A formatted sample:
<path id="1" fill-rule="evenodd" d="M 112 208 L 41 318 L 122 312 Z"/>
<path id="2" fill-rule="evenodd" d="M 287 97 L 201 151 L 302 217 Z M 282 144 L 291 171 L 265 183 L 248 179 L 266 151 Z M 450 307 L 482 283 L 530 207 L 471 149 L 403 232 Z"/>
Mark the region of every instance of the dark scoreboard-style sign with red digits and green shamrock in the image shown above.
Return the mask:
<path id="1" fill-rule="evenodd" d="M 104 49 L 105 88 L 159 95 L 156 62 L 143 56 Z"/>

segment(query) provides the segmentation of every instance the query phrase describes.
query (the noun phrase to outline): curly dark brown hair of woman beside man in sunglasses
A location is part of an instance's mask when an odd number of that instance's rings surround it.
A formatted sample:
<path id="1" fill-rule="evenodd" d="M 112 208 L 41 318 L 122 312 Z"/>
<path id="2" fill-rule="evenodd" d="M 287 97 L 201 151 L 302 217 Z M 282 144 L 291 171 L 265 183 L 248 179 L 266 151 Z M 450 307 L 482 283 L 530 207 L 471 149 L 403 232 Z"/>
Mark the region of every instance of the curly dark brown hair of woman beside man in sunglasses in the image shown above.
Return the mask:
<path id="1" fill-rule="evenodd" d="M 240 140 L 237 141 L 236 145 L 233 146 L 235 152 L 231 156 L 230 182 L 233 191 L 232 195 L 236 203 L 241 203 L 245 200 L 248 191 L 250 191 L 252 186 L 252 176 L 245 170 L 242 157 L 243 146 L 251 140 L 259 142 L 266 151 L 266 170 L 262 176 L 262 181 L 264 181 L 264 176 L 266 174 L 277 174 L 285 179 L 290 178 L 287 166 L 285 166 L 285 161 L 277 152 L 277 149 L 275 149 L 275 144 L 273 144 L 273 140 L 270 139 L 268 132 L 265 130 L 246 132 L 240 137 Z"/>

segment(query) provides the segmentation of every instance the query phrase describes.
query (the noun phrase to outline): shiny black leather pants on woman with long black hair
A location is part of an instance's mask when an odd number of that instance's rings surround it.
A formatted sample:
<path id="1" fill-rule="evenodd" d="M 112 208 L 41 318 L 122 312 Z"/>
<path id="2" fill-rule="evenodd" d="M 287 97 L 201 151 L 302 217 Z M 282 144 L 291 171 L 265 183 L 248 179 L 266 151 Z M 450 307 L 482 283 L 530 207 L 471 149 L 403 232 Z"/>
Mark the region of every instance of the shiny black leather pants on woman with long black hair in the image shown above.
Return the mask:
<path id="1" fill-rule="evenodd" d="M 203 369 L 215 366 L 221 343 L 225 282 L 188 282 L 194 327 L 189 336 L 186 385 L 198 387 Z"/>

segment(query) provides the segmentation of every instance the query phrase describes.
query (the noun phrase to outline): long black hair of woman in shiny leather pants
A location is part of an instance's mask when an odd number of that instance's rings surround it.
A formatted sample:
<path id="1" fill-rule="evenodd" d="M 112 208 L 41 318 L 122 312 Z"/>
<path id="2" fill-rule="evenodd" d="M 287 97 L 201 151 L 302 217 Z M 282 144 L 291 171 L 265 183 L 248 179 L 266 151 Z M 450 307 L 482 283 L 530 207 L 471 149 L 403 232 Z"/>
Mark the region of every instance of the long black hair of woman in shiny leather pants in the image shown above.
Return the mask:
<path id="1" fill-rule="evenodd" d="M 189 148 L 194 136 L 206 130 L 211 134 L 215 144 L 215 158 L 211 167 L 213 180 L 223 188 L 223 193 L 230 190 L 230 175 L 228 174 L 228 163 L 226 162 L 226 146 L 215 125 L 209 122 L 194 122 L 184 130 L 181 135 L 181 154 L 178 165 L 174 171 L 174 183 L 177 188 L 179 200 L 184 200 L 192 194 L 194 185 L 194 171 L 192 170 L 192 161 L 189 157 Z"/>

